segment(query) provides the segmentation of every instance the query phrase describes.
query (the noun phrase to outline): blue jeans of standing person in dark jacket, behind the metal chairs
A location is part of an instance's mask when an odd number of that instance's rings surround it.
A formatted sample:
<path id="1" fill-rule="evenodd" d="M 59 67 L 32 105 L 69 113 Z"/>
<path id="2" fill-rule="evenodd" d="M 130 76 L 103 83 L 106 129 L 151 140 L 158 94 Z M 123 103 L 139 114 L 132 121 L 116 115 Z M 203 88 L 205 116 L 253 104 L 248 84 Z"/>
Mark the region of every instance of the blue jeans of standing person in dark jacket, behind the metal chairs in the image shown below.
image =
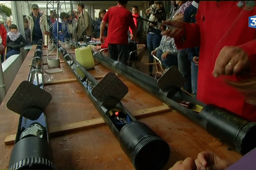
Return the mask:
<path id="1" fill-rule="evenodd" d="M 153 63 L 154 61 L 154 57 L 151 56 L 151 52 L 154 51 L 154 49 L 156 49 L 157 47 L 159 47 L 160 42 L 162 39 L 162 35 L 161 35 L 161 31 L 159 30 L 157 33 L 148 33 L 147 35 L 147 46 L 148 46 L 148 62 L 149 63 Z M 153 65 L 149 65 L 148 68 L 149 72 L 153 71 Z"/>

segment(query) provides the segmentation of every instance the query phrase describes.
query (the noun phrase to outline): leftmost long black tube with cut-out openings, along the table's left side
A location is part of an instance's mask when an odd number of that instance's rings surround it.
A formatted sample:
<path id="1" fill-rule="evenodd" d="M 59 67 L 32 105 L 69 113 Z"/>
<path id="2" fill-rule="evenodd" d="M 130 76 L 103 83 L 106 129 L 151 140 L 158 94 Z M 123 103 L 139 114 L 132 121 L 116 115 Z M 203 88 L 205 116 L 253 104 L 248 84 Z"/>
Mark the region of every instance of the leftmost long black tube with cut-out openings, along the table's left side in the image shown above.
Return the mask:
<path id="1" fill-rule="evenodd" d="M 43 89 L 42 40 L 38 41 L 32 65 L 29 71 L 29 82 Z M 22 100 L 22 99 L 21 99 Z M 7 106 L 9 103 L 7 103 Z M 20 119 L 15 145 L 9 161 L 9 170 L 19 169 L 56 169 L 52 148 L 49 143 L 49 131 L 44 108 L 35 103 L 20 111 Z M 26 117 L 26 115 L 30 115 Z"/>

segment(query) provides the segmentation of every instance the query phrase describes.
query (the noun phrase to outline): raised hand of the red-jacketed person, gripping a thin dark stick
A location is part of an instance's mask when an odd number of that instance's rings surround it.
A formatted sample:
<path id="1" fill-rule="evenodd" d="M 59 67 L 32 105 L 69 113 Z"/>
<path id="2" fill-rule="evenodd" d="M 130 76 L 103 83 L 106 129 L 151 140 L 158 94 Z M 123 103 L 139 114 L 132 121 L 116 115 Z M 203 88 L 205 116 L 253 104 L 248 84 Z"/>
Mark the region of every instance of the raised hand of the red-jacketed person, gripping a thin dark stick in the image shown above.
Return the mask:
<path id="1" fill-rule="evenodd" d="M 173 37 L 173 38 L 181 38 L 181 37 L 185 36 L 186 28 L 185 28 L 184 22 L 175 21 L 175 20 L 167 20 L 167 21 L 162 21 L 162 23 L 176 27 L 173 29 L 169 28 L 165 31 L 162 31 L 161 32 L 162 35 L 169 35 L 170 37 Z"/>

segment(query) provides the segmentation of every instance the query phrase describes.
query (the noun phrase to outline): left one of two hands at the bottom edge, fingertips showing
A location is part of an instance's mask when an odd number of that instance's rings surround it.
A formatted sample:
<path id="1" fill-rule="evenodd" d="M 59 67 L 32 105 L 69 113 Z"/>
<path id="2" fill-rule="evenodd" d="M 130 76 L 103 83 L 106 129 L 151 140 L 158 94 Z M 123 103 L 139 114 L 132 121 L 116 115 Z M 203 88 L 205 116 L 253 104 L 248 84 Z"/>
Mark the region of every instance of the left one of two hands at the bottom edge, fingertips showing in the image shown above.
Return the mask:
<path id="1" fill-rule="evenodd" d="M 169 170 L 197 170 L 194 159 L 186 158 L 184 161 L 177 161 Z"/>

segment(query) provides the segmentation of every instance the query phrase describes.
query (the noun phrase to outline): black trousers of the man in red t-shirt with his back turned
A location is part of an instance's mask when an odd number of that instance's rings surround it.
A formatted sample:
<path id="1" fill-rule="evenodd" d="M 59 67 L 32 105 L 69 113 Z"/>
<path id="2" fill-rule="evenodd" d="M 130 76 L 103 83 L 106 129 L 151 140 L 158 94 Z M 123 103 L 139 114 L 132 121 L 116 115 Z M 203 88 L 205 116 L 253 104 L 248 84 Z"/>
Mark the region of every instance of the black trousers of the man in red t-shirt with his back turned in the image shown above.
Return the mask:
<path id="1" fill-rule="evenodd" d="M 129 45 L 127 44 L 108 44 L 108 54 L 111 59 L 119 60 L 127 65 L 129 57 Z"/>

